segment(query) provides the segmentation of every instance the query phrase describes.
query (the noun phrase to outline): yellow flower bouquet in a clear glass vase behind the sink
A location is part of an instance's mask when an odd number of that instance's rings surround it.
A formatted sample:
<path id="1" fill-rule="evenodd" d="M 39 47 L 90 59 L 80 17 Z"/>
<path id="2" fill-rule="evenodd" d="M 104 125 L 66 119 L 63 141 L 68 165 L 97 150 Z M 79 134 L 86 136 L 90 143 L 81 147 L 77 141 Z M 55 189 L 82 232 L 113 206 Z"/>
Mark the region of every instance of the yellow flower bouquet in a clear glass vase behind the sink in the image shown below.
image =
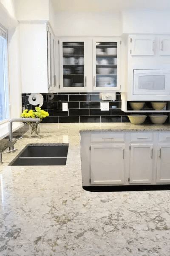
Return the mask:
<path id="1" fill-rule="evenodd" d="M 26 117 L 26 118 L 40 118 L 41 120 L 44 117 L 48 117 L 49 114 L 48 112 L 42 110 L 40 107 L 36 107 L 35 110 L 33 111 L 32 109 L 28 111 L 28 109 L 24 110 L 23 113 L 21 114 L 21 117 Z M 41 122 L 40 120 L 40 122 Z M 37 136 L 38 135 L 38 123 L 36 122 L 28 122 L 30 125 L 31 129 L 31 135 L 32 136 Z"/>

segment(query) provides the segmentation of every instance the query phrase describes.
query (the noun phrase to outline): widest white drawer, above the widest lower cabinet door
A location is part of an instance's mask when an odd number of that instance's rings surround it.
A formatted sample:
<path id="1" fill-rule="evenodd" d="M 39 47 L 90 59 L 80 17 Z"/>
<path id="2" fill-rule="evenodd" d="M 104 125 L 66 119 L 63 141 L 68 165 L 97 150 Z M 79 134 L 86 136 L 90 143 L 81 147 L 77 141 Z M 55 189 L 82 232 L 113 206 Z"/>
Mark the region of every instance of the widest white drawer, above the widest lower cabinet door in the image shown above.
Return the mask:
<path id="1" fill-rule="evenodd" d="M 91 134 L 91 142 L 122 143 L 122 142 L 125 142 L 125 133 L 101 132 L 101 133 Z"/>

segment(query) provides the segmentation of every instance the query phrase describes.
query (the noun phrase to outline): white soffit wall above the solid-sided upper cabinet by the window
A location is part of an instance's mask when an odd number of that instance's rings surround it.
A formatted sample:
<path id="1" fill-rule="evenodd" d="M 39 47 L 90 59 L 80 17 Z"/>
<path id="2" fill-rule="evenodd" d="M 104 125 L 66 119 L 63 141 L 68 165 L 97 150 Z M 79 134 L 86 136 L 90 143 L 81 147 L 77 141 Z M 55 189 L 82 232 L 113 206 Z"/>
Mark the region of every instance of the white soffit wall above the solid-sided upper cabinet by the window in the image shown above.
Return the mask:
<path id="1" fill-rule="evenodd" d="M 48 0 L 15 0 L 17 20 L 48 20 L 48 2 Z"/>

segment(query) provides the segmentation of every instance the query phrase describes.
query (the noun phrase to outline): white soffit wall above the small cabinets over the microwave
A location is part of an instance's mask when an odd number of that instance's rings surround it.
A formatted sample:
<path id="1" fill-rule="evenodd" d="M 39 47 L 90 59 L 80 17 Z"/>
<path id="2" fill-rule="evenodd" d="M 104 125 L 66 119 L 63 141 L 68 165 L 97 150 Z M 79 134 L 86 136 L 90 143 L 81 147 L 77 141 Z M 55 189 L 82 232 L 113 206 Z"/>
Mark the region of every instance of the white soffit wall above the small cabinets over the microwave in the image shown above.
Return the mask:
<path id="1" fill-rule="evenodd" d="M 170 11 L 122 11 L 122 33 L 170 34 Z"/>

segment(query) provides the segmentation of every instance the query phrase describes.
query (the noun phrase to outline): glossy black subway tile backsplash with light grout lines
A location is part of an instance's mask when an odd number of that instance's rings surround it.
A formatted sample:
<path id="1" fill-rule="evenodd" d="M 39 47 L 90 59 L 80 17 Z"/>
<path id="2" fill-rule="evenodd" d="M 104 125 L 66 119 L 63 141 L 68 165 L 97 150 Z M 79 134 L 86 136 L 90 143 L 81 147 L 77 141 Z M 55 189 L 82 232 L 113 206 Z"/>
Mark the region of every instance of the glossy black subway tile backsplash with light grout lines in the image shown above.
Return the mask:
<path id="1" fill-rule="evenodd" d="M 31 105 L 28 102 L 30 94 L 22 94 L 22 111 L 24 109 L 35 109 L 36 106 Z M 127 115 L 131 114 L 146 114 L 146 123 L 150 123 L 150 114 L 148 113 L 125 113 L 121 110 L 121 94 L 116 92 L 116 100 L 109 100 L 109 111 L 100 110 L 100 102 L 103 102 L 99 98 L 99 92 L 80 92 L 80 93 L 50 93 L 42 94 L 44 102 L 42 109 L 48 111 L 49 117 L 42 119 L 42 123 L 69 123 L 69 122 L 130 122 Z M 68 111 L 62 111 L 62 102 L 68 103 Z M 107 102 L 107 101 L 106 101 Z M 145 104 L 150 108 L 150 103 Z M 130 108 L 129 108 L 130 109 Z M 152 110 L 151 110 L 152 111 Z M 166 122 L 170 122 L 169 113 Z"/>

